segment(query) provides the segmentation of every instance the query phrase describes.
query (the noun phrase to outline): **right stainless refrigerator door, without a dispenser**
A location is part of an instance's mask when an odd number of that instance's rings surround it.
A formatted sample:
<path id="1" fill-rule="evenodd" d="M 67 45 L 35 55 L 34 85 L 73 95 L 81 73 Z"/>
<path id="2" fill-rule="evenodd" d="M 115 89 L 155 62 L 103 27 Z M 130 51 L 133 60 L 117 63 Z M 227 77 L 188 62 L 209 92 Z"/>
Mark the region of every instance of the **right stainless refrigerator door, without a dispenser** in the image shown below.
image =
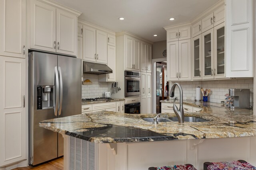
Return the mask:
<path id="1" fill-rule="evenodd" d="M 60 107 L 58 117 L 82 114 L 82 60 L 58 56 Z M 63 137 L 58 134 L 58 156 L 63 155 Z"/>

